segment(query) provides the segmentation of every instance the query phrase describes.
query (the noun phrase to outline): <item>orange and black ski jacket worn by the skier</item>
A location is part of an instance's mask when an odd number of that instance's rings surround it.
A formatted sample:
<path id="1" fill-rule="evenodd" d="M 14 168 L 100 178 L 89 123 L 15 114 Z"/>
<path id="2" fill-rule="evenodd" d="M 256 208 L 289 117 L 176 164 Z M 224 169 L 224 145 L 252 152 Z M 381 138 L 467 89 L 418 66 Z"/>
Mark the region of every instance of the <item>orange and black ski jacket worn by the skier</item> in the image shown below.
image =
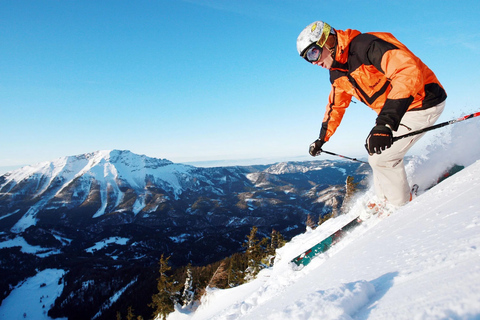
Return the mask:
<path id="1" fill-rule="evenodd" d="M 405 112 L 433 107 L 447 97 L 435 74 L 390 33 L 335 30 L 332 91 L 320 131 L 328 141 L 352 96 L 372 108 L 377 124 L 398 129 Z"/>

